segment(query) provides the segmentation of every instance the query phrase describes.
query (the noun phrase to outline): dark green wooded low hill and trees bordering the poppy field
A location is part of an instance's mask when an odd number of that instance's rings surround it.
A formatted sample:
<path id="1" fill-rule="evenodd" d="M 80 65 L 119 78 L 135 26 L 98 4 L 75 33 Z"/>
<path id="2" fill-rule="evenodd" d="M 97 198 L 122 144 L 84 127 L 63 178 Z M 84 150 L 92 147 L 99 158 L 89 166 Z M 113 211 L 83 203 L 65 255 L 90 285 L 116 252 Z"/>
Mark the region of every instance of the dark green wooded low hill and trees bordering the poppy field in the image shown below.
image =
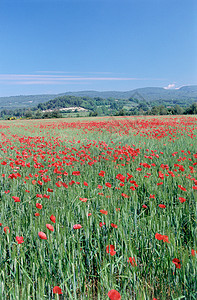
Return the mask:
<path id="1" fill-rule="evenodd" d="M 26 118 L 26 119 L 45 119 L 45 118 L 61 118 L 72 116 L 71 111 L 63 113 L 61 108 L 77 107 L 85 108 L 89 112 L 89 116 L 126 116 L 126 115 L 181 115 L 181 114 L 197 114 L 197 102 L 189 106 L 180 106 L 178 104 L 169 105 L 168 102 L 163 101 L 164 104 L 157 105 L 156 102 L 148 102 L 139 99 L 103 99 L 100 97 L 75 97 L 62 96 L 45 103 L 39 103 L 32 108 L 18 108 L 18 109 L 2 109 L 0 110 L 1 119 L 11 118 Z M 161 100 L 159 103 L 162 103 Z"/>

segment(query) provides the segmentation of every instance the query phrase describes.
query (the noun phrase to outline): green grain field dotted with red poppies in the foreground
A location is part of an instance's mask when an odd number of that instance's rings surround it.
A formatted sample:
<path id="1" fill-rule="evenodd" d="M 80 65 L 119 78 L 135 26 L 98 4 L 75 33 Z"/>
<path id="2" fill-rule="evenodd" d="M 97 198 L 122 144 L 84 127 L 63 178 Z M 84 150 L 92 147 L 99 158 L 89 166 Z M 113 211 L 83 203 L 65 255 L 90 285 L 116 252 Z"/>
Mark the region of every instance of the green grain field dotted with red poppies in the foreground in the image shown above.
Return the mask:
<path id="1" fill-rule="evenodd" d="M 0 122 L 0 299 L 196 299 L 197 118 Z"/>

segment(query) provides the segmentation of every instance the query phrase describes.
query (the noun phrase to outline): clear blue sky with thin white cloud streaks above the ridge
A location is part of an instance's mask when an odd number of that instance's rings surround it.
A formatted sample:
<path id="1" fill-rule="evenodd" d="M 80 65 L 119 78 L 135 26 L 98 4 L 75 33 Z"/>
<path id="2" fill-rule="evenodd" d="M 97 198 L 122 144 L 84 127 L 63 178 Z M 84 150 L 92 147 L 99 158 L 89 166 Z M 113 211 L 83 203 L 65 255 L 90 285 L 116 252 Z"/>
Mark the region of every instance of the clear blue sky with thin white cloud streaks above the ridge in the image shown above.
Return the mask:
<path id="1" fill-rule="evenodd" d="M 197 84 L 196 0 L 0 0 L 0 96 Z"/>

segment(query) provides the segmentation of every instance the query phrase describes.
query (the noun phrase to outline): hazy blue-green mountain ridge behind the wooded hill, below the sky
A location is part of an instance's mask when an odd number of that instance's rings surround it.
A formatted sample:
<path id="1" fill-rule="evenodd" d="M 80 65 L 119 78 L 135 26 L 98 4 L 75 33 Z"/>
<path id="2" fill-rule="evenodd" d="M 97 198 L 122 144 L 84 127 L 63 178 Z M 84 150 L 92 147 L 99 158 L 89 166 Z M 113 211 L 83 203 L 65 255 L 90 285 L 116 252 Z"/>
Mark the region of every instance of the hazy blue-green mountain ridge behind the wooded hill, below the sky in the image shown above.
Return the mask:
<path id="1" fill-rule="evenodd" d="M 76 96 L 76 97 L 100 97 L 103 99 L 138 99 L 140 102 L 154 102 L 154 103 L 168 103 L 179 104 L 182 106 L 197 102 L 197 85 L 183 86 L 179 89 L 165 89 L 159 87 L 139 88 L 131 91 L 79 91 L 79 92 L 65 92 L 61 94 L 48 95 L 21 95 L 0 97 L 0 109 L 17 109 L 35 107 L 39 103 L 45 103 L 49 100 L 61 96 Z"/>

